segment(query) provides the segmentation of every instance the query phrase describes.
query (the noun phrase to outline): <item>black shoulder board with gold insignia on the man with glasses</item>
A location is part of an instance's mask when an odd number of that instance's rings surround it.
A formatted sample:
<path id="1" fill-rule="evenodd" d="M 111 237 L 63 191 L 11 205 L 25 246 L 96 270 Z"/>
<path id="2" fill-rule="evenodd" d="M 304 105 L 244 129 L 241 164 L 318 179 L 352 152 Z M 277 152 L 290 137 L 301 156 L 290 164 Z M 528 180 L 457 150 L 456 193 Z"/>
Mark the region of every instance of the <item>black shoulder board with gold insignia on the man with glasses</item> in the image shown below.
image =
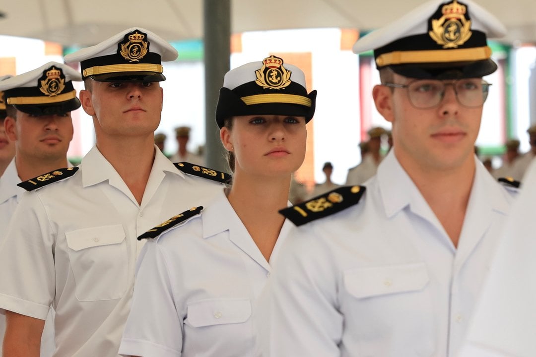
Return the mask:
<path id="1" fill-rule="evenodd" d="M 357 204 L 363 196 L 364 186 L 342 186 L 316 196 L 307 202 L 279 211 L 296 226 L 340 212 Z"/>

